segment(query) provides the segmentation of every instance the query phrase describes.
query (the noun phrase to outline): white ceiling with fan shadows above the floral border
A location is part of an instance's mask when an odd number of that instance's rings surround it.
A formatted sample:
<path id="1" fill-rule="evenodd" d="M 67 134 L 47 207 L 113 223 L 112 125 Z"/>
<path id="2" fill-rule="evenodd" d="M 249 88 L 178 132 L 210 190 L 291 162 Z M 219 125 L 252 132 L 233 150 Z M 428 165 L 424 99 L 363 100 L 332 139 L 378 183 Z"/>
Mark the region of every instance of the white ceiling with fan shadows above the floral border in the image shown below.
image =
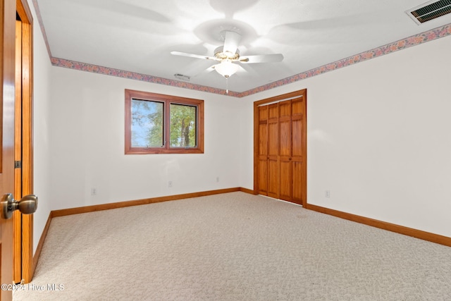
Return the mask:
<path id="1" fill-rule="evenodd" d="M 244 92 L 451 23 L 417 25 L 409 8 L 424 0 L 36 0 L 51 56 L 226 88 L 213 56 L 221 30 L 242 34 L 242 56 L 283 54 L 280 63 L 242 64 L 229 88 Z"/>

